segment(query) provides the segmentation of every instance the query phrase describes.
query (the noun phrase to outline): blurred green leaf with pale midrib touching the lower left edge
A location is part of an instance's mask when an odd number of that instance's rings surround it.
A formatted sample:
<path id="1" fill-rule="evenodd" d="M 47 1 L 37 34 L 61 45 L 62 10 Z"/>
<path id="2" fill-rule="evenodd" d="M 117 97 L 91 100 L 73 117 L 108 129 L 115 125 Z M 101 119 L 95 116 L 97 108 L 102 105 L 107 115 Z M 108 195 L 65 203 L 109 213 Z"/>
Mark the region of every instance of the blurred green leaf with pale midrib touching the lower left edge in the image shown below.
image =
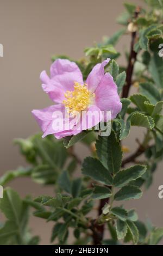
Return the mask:
<path id="1" fill-rule="evenodd" d="M 11 188 L 5 188 L 3 191 L 3 199 L 0 200 L 0 209 L 8 220 L 20 223 L 22 202 L 18 193 Z"/>

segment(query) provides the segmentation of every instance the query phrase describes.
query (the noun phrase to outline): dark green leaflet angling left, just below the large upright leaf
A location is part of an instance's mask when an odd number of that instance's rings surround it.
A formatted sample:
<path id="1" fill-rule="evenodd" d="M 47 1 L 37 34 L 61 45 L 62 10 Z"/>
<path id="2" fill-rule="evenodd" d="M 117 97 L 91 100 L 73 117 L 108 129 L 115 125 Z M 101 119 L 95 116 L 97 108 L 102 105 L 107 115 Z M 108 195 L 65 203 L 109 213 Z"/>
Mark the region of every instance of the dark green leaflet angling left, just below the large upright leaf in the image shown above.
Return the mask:
<path id="1" fill-rule="evenodd" d="M 84 159 L 82 173 L 105 185 L 112 184 L 110 172 L 105 169 L 101 162 L 97 159 L 93 159 L 93 157 L 86 157 L 86 159 Z"/>

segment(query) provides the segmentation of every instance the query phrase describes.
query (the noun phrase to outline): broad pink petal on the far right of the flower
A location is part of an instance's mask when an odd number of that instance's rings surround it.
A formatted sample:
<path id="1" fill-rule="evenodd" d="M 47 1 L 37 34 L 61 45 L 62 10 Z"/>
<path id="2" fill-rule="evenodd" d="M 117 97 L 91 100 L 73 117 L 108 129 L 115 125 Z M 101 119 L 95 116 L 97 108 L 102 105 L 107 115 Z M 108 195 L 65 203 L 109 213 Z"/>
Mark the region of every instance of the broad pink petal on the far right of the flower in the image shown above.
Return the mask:
<path id="1" fill-rule="evenodd" d="M 117 86 L 109 73 L 106 73 L 95 91 L 95 101 L 101 111 L 111 111 L 111 119 L 121 112 L 122 103 Z"/>

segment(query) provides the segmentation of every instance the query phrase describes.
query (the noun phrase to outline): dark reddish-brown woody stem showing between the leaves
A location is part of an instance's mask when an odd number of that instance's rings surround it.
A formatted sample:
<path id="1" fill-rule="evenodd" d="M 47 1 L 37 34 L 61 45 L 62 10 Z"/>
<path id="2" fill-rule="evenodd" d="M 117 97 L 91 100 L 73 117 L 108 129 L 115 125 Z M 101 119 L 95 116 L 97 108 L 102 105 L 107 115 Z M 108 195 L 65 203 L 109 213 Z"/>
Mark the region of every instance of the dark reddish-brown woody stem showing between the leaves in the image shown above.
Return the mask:
<path id="1" fill-rule="evenodd" d="M 139 13 L 140 13 L 140 8 L 137 7 L 136 10 L 135 10 L 135 16 L 134 16 L 135 19 L 139 15 Z M 131 33 L 131 46 L 130 46 L 129 62 L 128 62 L 128 66 L 127 66 L 126 85 L 123 87 L 122 97 L 128 97 L 129 89 L 130 89 L 130 86 L 131 86 L 134 64 L 135 64 L 136 56 L 137 56 L 137 53 L 134 51 L 136 36 L 137 36 L 136 32 Z M 133 161 L 133 159 L 135 157 L 141 155 L 143 152 L 144 152 L 144 149 L 142 150 L 141 147 L 140 147 L 136 151 L 136 153 L 133 154 L 133 156 L 130 157 L 129 161 L 130 160 Z M 123 165 L 125 163 L 126 162 L 124 160 Z M 105 198 L 105 199 L 100 200 L 99 207 L 98 207 L 98 216 L 100 216 L 102 214 L 102 208 L 108 202 L 109 202 L 109 198 Z M 101 241 L 102 241 L 103 236 L 104 236 L 104 225 L 105 224 L 99 225 L 98 223 L 96 224 L 95 222 L 92 223 L 91 230 L 93 232 L 92 238 L 93 238 L 93 244 L 94 245 L 101 245 Z"/>

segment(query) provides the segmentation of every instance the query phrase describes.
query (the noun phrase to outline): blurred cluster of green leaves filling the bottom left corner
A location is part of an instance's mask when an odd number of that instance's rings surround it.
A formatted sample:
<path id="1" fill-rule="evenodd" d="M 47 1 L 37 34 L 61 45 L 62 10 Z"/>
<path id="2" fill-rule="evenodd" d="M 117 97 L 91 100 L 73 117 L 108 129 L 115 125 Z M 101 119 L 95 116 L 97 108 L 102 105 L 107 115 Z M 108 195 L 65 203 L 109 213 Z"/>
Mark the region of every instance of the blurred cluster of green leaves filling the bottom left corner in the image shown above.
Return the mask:
<path id="1" fill-rule="evenodd" d="M 36 245 L 39 242 L 39 237 L 32 237 L 28 229 L 29 206 L 17 192 L 6 188 L 0 209 L 7 218 L 0 228 L 1 245 Z"/>

